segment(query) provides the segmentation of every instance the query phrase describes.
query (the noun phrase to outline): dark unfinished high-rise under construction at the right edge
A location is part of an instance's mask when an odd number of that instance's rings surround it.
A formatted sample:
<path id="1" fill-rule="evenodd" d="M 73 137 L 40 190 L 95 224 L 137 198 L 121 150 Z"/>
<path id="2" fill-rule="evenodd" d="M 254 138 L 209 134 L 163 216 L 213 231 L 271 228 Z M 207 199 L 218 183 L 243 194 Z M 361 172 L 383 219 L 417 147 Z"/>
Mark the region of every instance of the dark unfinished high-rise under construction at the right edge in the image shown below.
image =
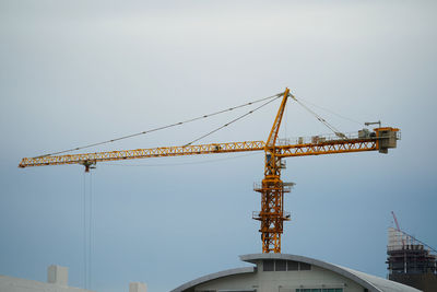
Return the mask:
<path id="1" fill-rule="evenodd" d="M 399 227 L 389 227 L 389 279 L 424 292 L 437 291 L 436 250 Z"/>

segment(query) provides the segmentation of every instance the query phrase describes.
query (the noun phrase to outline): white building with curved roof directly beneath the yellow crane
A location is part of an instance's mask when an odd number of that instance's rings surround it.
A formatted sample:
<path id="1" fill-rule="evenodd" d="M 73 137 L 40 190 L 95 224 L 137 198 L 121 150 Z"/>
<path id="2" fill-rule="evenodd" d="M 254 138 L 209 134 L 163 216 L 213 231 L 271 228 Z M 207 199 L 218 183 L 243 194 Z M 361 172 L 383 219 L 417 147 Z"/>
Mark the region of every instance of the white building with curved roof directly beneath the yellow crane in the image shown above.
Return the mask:
<path id="1" fill-rule="evenodd" d="M 285 254 L 240 256 L 253 267 L 225 270 L 187 282 L 172 292 L 418 292 L 379 277 Z"/>

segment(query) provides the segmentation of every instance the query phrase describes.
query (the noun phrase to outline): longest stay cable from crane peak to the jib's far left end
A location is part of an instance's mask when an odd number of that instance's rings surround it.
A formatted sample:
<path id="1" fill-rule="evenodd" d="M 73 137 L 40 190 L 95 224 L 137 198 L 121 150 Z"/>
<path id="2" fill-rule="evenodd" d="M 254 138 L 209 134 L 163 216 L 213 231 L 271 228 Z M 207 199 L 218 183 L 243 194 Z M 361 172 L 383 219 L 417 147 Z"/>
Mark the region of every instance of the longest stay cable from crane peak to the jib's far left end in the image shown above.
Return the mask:
<path id="1" fill-rule="evenodd" d="M 62 153 L 67 153 L 67 152 L 72 152 L 72 151 L 85 149 L 85 148 L 92 148 L 92 147 L 96 147 L 96 145 L 111 143 L 111 142 L 115 142 L 115 141 L 119 141 L 119 140 L 123 140 L 123 139 L 128 139 L 128 138 L 133 138 L 133 137 L 137 137 L 137 136 L 141 136 L 141 135 L 145 135 L 145 133 L 150 133 L 150 132 L 154 132 L 154 131 L 158 131 L 158 130 L 164 130 L 164 129 L 167 129 L 167 128 L 180 126 L 182 124 L 188 124 L 188 122 L 196 121 L 196 120 L 199 120 L 199 119 L 209 118 L 209 117 L 212 117 L 212 116 L 215 116 L 215 115 L 218 115 L 218 114 L 223 114 L 223 113 L 226 113 L 226 112 L 231 112 L 231 110 L 234 110 L 234 109 L 237 109 L 237 108 L 240 108 L 240 107 L 245 107 L 245 106 L 249 106 L 249 105 L 252 105 L 252 104 L 256 104 L 256 103 L 260 103 L 260 102 L 273 98 L 273 97 L 281 96 L 282 94 L 283 93 L 277 93 L 277 94 L 269 96 L 269 97 L 260 98 L 260 100 L 257 100 L 257 101 L 253 101 L 253 102 L 250 102 L 250 103 L 246 103 L 246 104 L 237 105 L 237 106 L 229 107 L 229 108 L 226 108 L 226 109 L 222 109 L 222 110 L 218 110 L 218 112 L 215 112 L 215 113 L 212 113 L 212 114 L 199 116 L 199 117 L 196 117 L 196 118 L 187 119 L 187 120 L 184 120 L 184 121 L 170 124 L 170 125 L 167 125 L 167 126 L 157 127 L 157 128 L 154 128 L 154 129 L 150 129 L 150 130 L 145 130 L 145 131 L 137 132 L 137 133 L 131 133 L 131 135 L 128 135 L 128 136 L 110 139 L 110 140 L 103 141 L 103 142 L 92 143 L 92 144 L 87 144 L 87 145 L 83 145 L 83 147 L 76 147 L 76 148 L 72 148 L 72 149 L 68 149 L 68 150 L 62 150 L 62 151 L 58 151 L 58 152 L 54 152 L 54 153 L 49 153 L 49 154 L 35 156 L 35 159 L 50 156 L 50 155 L 57 155 L 57 154 L 62 154 Z"/>

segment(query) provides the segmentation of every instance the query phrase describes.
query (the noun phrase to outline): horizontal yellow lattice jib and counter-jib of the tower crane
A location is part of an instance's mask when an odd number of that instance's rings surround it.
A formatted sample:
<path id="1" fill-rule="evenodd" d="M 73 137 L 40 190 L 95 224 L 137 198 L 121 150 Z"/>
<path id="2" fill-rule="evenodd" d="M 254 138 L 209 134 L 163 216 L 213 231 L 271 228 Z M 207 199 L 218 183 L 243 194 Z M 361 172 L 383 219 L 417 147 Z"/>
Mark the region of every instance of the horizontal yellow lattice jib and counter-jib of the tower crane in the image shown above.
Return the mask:
<path id="1" fill-rule="evenodd" d="M 387 153 L 389 148 L 397 147 L 399 129 L 397 128 L 377 128 L 373 135 L 365 137 L 345 138 L 336 140 L 312 141 L 311 143 L 296 143 L 276 145 L 280 157 L 306 156 L 320 154 L 351 153 L 363 151 L 379 150 L 381 153 Z M 147 157 L 165 157 L 165 156 L 184 156 L 196 154 L 214 154 L 214 153 L 232 153 L 246 151 L 264 151 L 265 142 L 263 141 L 245 141 L 231 143 L 212 143 L 200 145 L 185 147 L 160 147 L 151 149 L 121 150 L 109 152 L 95 152 L 84 154 L 70 155 L 46 155 L 37 157 L 23 159 L 20 167 L 43 166 L 43 165 L 59 165 L 59 164 L 82 164 L 85 167 L 104 161 L 120 161 Z"/>

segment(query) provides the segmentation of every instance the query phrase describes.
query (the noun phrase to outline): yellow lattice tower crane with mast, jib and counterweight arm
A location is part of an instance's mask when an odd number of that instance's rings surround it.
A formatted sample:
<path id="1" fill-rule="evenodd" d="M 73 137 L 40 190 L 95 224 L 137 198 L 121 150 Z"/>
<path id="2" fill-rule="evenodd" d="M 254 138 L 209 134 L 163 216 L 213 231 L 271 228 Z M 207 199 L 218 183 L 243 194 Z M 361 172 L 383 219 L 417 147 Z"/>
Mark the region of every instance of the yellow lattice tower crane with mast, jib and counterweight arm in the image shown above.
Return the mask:
<path id="1" fill-rule="evenodd" d="M 282 159 L 305 155 L 335 154 L 376 151 L 387 153 L 388 149 L 397 147 L 399 129 L 379 127 L 374 131 L 362 131 L 357 136 L 336 133 L 336 138 L 314 137 L 310 142 L 299 139 L 297 143 L 279 143 L 277 133 L 288 97 L 295 97 L 286 89 L 281 93 L 282 102 L 273 127 L 267 141 L 245 141 L 228 143 L 210 143 L 182 147 L 161 147 L 152 149 L 122 150 L 69 155 L 44 155 L 24 157 L 20 167 L 81 164 L 88 172 L 97 162 L 121 161 L 132 159 L 181 156 L 196 154 L 213 154 L 246 151 L 264 151 L 264 178 L 256 191 L 261 194 L 261 211 L 253 213 L 253 219 L 261 222 L 262 253 L 281 253 L 281 235 L 284 221 L 291 220 L 290 213 L 284 212 L 284 192 L 288 192 L 291 184 L 281 180 Z"/>

